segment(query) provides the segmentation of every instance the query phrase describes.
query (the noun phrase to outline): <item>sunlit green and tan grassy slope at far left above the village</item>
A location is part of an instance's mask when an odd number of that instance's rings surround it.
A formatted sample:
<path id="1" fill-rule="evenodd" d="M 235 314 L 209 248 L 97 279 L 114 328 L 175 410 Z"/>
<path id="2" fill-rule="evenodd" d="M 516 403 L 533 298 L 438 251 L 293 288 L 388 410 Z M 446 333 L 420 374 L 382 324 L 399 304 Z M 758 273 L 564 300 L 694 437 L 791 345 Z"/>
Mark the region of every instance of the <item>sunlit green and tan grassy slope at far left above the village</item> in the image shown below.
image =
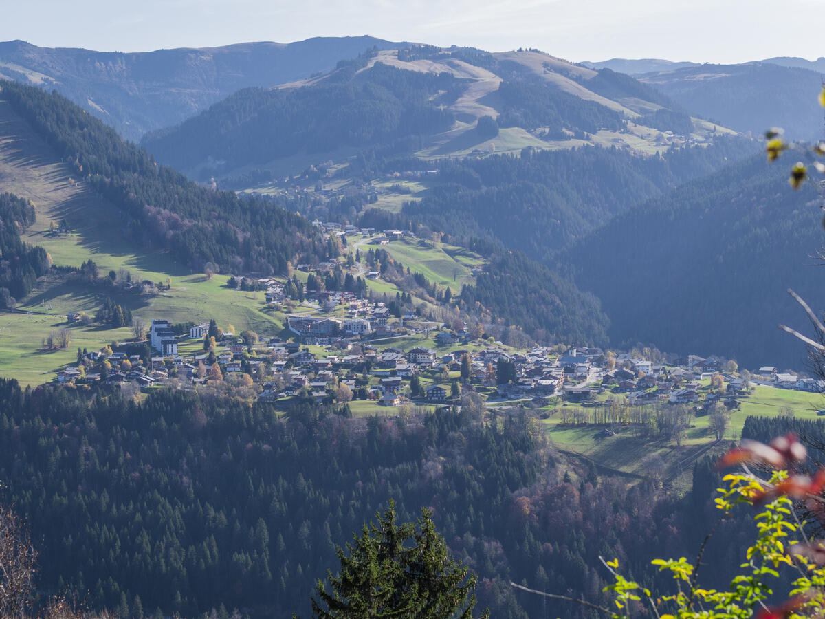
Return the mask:
<path id="1" fill-rule="evenodd" d="M 85 311 L 94 315 L 106 296 L 131 309 L 148 324 L 153 318 L 175 322 L 202 322 L 210 318 L 236 332 L 252 329 L 260 335 L 276 335 L 285 317 L 266 307 L 262 292 L 233 291 L 228 276 L 207 279 L 176 264 L 166 253 L 140 247 L 122 239 L 117 210 L 73 178 L 63 163 L 54 160 L 50 149 L 31 134 L 6 103 L 0 101 L 0 181 L 3 191 L 12 191 L 35 204 L 36 220 L 23 240 L 45 248 L 55 265 L 79 266 L 89 258 L 101 274 L 126 269 L 133 281 L 171 285 L 158 295 L 141 295 L 82 281 L 42 278 L 17 312 L 0 314 L 0 376 L 13 376 L 26 385 L 37 385 L 54 377 L 75 360 L 78 347 L 98 349 L 112 340 L 131 337 L 129 328 L 101 328 L 66 324 L 66 314 Z M 68 233 L 52 231 L 65 221 Z M 64 350 L 45 352 L 43 338 L 68 326 L 72 343 Z"/>

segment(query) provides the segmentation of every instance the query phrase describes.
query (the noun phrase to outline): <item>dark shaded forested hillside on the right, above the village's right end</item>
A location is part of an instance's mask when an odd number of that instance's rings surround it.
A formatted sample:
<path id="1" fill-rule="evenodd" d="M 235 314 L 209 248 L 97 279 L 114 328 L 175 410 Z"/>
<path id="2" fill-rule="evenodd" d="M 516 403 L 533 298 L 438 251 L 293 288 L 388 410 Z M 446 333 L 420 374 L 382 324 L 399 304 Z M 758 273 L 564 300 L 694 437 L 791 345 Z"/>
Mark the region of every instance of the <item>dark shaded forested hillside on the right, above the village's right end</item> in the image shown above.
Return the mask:
<path id="1" fill-rule="evenodd" d="M 601 299 L 611 342 L 802 366 L 804 349 L 776 325 L 805 324 L 789 287 L 825 307 L 813 267 L 822 215 L 818 196 L 791 191 L 787 174 L 755 156 L 620 215 L 563 254 Z"/>

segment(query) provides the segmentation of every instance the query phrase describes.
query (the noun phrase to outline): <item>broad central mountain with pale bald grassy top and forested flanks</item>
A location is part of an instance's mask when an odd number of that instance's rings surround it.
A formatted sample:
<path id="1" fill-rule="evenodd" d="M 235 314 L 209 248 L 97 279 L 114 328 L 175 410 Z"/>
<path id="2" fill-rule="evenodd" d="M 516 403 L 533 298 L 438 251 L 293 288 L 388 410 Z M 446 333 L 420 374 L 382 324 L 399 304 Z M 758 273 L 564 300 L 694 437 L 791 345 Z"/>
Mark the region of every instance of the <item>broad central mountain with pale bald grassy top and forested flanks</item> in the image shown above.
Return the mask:
<path id="1" fill-rule="evenodd" d="M 431 158 L 598 144 L 653 154 L 708 143 L 717 131 L 729 133 L 610 69 L 535 50 L 417 45 L 237 92 L 143 144 L 164 163 L 208 178 L 277 168 L 285 158 L 305 168 L 365 149 Z"/>

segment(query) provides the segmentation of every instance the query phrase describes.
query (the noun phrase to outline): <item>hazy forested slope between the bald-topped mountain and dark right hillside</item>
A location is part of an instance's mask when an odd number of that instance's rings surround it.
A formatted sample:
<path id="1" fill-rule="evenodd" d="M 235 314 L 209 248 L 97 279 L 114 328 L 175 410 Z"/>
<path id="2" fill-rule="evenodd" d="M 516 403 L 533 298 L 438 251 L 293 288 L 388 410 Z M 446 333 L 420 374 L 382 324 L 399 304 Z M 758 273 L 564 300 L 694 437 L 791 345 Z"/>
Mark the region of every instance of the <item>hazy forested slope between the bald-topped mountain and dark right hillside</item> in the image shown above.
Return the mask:
<path id="1" fill-rule="evenodd" d="M 618 149 L 535 151 L 448 161 L 422 201 L 402 215 L 467 242 L 496 239 L 538 260 L 631 206 L 746 156 L 757 144 L 721 138 L 708 148 L 641 158 Z"/>

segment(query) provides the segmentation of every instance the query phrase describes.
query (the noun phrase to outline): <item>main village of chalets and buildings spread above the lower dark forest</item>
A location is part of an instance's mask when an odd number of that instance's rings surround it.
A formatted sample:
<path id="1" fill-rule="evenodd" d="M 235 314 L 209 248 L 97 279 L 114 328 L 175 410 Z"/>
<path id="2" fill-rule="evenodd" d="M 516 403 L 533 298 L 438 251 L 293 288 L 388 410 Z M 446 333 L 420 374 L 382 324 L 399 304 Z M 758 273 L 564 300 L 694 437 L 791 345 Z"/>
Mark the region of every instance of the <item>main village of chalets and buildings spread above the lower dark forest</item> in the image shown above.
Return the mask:
<path id="1" fill-rule="evenodd" d="M 221 378 L 249 376 L 263 400 L 307 395 L 318 402 L 332 401 L 339 397 L 337 390 L 346 385 L 354 397 L 386 406 L 398 406 L 410 399 L 447 403 L 454 390 L 451 382 L 455 379 L 450 377 L 462 371 L 464 388 L 486 388 L 488 395 L 500 399 L 559 396 L 582 403 L 610 389 L 625 394 L 629 404 L 690 404 L 700 399 L 709 403 L 719 399 L 735 405 L 736 396 L 747 388 L 740 376 L 721 371 L 719 361 L 695 356 L 665 366 L 626 354 L 608 357 L 601 348 L 570 348 L 561 355 L 540 346 L 515 353 L 496 346 L 471 350 L 461 347 L 469 340 L 467 333 L 447 329 L 436 333 L 428 346 L 380 348 L 362 339 L 384 327 L 385 313 L 381 310 L 385 308 L 372 309 L 377 315 L 370 319 L 295 314 L 289 317 L 288 326 L 299 341 L 271 338 L 250 345 L 233 335 L 224 335 L 219 338 L 220 352 L 199 352 L 188 357 L 177 351 L 178 340 L 186 335 L 176 336 L 167 320 L 156 319 L 149 329 L 153 356 L 148 363 L 139 355 L 115 351 L 106 356 L 112 368 L 106 376 L 84 372 L 78 366 L 60 371 L 58 380 L 103 380 L 108 384 L 134 381 L 146 387 L 175 378 L 181 386 L 187 382 L 197 385 L 217 378 L 212 375 L 217 364 Z M 208 332 L 209 324 L 198 324 L 190 329 L 188 337 L 200 340 Z M 311 352 L 308 341 L 325 346 L 323 354 Z M 87 352 L 85 359 L 94 364 L 103 355 L 106 352 Z M 510 364 L 514 373 L 506 384 L 497 385 L 502 361 Z M 205 372 L 207 367 L 209 372 Z M 716 375 L 724 380 L 724 392 L 700 393 L 700 380 Z M 413 398 L 412 381 L 416 376 L 421 386 Z M 820 381 L 784 374 L 768 366 L 760 368 L 757 376 L 789 389 L 815 391 L 825 387 Z"/>

